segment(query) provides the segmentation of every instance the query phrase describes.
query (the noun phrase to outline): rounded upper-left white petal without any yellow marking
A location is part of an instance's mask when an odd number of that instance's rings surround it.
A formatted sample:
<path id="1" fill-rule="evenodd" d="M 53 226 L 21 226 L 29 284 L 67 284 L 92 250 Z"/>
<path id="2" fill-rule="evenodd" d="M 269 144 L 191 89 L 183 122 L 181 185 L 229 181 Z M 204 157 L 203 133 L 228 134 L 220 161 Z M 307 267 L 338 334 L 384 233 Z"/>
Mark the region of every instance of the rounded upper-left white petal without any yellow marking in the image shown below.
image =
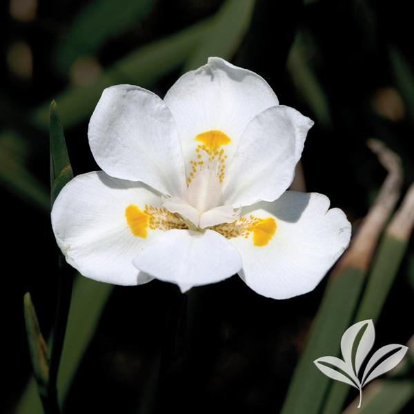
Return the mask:
<path id="1" fill-rule="evenodd" d="M 175 121 L 164 101 L 131 85 L 103 91 L 89 123 L 97 164 L 112 177 L 142 181 L 161 193 L 184 195 L 184 160 Z"/>

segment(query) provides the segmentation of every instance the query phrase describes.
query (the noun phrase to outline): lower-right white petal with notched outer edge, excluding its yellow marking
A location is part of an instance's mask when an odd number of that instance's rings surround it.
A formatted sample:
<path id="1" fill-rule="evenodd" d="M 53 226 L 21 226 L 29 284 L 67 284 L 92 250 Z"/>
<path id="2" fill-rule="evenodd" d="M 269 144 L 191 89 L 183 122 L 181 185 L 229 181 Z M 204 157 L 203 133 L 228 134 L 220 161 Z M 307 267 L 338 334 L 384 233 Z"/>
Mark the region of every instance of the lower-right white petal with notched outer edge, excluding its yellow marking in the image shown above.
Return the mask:
<path id="1" fill-rule="evenodd" d="M 277 226 L 266 246 L 254 246 L 251 236 L 230 239 L 242 255 L 239 275 L 244 282 L 275 299 L 313 290 L 351 237 L 351 224 L 342 210 L 328 208 L 329 199 L 322 194 L 286 191 L 273 203 L 244 209 L 242 215 L 273 217 Z"/>

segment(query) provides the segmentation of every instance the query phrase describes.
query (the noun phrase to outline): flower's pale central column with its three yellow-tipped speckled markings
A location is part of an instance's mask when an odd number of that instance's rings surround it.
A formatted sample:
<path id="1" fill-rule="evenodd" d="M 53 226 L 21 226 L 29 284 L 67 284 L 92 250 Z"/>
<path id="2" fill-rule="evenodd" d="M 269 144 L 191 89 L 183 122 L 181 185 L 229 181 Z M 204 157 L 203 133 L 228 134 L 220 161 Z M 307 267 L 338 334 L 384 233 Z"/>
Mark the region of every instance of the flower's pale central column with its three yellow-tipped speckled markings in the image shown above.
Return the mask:
<path id="1" fill-rule="evenodd" d="M 166 197 L 162 208 L 146 205 L 144 211 L 130 204 L 125 215 L 132 234 L 145 239 L 148 230 L 211 228 L 227 239 L 253 235 L 254 246 L 266 246 L 277 228 L 273 217 L 239 217 L 233 206 L 220 204 L 227 159 L 221 146 L 230 144 L 230 138 L 224 132 L 210 130 L 197 135 L 195 141 L 201 144 L 195 148 L 197 161 L 190 161 L 184 199 Z"/>

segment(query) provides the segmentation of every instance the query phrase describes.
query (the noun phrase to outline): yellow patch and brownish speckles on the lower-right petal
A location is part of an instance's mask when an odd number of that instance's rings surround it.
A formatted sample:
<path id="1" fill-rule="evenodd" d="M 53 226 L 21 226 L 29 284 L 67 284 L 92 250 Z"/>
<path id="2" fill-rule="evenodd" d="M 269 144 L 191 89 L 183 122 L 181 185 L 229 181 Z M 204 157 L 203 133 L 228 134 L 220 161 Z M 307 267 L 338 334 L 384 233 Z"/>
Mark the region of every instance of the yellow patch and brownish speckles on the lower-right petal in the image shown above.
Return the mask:
<path id="1" fill-rule="evenodd" d="M 253 215 L 247 217 L 240 217 L 233 223 L 224 223 L 214 226 L 212 230 L 217 231 L 226 239 L 233 239 L 233 237 L 244 237 L 248 239 L 250 233 L 253 233 L 253 244 L 261 247 L 266 246 L 270 239 L 276 233 L 276 220 L 273 217 L 267 219 L 259 219 Z"/>

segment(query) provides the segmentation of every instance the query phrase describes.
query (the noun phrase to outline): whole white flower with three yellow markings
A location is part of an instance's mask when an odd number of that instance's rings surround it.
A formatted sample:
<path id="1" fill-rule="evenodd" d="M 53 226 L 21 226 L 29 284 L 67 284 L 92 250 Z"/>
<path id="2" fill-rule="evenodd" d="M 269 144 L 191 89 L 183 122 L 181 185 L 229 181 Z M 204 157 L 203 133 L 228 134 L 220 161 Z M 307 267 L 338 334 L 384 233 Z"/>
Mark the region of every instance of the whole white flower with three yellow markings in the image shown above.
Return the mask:
<path id="1" fill-rule="evenodd" d="M 156 278 L 185 291 L 239 273 L 266 297 L 306 293 L 351 236 L 326 196 L 286 191 L 312 125 L 262 77 L 217 57 L 164 101 L 107 88 L 88 130 L 103 171 L 57 197 L 57 244 L 82 275 L 111 284 Z"/>

